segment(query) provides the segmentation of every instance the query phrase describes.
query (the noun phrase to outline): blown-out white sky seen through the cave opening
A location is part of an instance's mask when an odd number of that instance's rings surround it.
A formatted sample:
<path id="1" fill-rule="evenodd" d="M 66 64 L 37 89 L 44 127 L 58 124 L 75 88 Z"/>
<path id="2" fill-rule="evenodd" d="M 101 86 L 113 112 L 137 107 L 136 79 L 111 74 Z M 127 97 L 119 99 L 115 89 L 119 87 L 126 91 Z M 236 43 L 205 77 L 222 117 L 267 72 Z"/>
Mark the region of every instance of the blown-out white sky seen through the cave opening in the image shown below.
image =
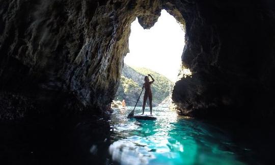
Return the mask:
<path id="1" fill-rule="evenodd" d="M 150 30 L 144 30 L 137 21 L 131 24 L 130 53 L 124 62 L 135 67 L 154 70 L 176 81 L 184 47 L 181 25 L 166 10 Z"/>

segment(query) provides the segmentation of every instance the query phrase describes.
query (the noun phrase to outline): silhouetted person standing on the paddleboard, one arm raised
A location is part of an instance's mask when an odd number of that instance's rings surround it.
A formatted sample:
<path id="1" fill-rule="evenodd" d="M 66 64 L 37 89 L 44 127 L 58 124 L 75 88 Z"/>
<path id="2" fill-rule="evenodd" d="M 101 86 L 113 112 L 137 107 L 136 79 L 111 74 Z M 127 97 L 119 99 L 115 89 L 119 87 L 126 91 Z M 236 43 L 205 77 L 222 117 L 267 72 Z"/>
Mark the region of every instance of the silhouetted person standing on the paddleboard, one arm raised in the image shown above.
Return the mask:
<path id="1" fill-rule="evenodd" d="M 152 78 L 152 81 L 149 81 L 149 77 Z M 149 98 L 149 103 L 150 103 L 150 115 L 152 115 L 152 91 L 151 91 L 151 84 L 155 81 L 154 78 L 148 74 L 148 76 L 144 77 L 144 84 L 143 87 L 145 89 L 144 97 L 143 97 L 143 106 L 142 106 L 142 115 L 144 114 L 144 109 L 145 109 L 145 104 L 147 101 L 147 98 Z"/>

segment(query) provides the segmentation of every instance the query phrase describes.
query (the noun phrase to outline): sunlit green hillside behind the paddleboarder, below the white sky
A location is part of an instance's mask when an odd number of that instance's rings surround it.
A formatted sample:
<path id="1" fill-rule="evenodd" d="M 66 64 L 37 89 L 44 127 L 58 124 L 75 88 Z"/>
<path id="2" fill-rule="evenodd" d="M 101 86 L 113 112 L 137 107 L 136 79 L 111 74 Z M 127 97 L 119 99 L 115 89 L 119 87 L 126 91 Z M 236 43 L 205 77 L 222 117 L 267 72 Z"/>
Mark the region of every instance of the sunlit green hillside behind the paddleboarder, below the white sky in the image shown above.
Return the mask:
<path id="1" fill-rule="evenodd" d="M 130 67 L 125 63 L 115 100 L 125 99 L 127 105 L 134 106 L 136 99 L 139 97 L 142 90 L 144 76 L 147 74 L 151 74 L 155 79 L 155 82 L 151 86 L 153 93 L 153 106 L 158 105 L 169 95 L 169 83 L 172 86 L 173 82 L 165 76 L 150 69 Z M 142 106 L 143 95 L 144 92 L 139 103 L 137 103 L 137 106 Z"/>

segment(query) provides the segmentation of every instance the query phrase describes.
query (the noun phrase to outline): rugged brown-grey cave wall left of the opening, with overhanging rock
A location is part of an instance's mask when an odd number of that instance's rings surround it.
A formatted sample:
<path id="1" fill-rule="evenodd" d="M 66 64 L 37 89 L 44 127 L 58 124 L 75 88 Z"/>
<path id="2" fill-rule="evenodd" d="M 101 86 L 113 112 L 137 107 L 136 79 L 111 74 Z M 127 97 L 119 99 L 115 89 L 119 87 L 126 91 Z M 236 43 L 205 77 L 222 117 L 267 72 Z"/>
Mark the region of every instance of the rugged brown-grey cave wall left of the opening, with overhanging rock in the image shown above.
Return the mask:
<path id="1" fill-rule="evenodd" d="M 2 118 L 10 119 L 19 108 L 13 106 L 7 115 L 5 106 L 14 99 L 6 95 L 33 100 L 42 112 L 105 111 L 119 85 L 130 23 L 140 16 L 150 28 L 160 15 L 158 1 L 0 4 L 0 107 Z"/>

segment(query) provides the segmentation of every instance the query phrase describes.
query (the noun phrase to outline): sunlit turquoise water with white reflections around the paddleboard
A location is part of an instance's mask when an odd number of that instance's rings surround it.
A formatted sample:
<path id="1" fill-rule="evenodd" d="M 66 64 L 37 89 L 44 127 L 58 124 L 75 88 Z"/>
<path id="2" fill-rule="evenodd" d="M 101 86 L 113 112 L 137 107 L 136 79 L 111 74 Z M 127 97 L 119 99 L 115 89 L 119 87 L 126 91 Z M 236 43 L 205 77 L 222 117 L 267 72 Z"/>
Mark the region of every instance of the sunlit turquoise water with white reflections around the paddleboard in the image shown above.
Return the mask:
<path id="1" fill-rule="evenodd" d="M 119 164 L 245 164 L 230 135 L 198 120 L 153 107 L 155 121 L 127 119 L 133 107 L 114 109 L 109 154 Z M 135 114 L 141 113 L 136 107 Z M 149 114 L 149 109 L 146 109 Z M 238 152 L 238 153 L 237 153 Z"/>

